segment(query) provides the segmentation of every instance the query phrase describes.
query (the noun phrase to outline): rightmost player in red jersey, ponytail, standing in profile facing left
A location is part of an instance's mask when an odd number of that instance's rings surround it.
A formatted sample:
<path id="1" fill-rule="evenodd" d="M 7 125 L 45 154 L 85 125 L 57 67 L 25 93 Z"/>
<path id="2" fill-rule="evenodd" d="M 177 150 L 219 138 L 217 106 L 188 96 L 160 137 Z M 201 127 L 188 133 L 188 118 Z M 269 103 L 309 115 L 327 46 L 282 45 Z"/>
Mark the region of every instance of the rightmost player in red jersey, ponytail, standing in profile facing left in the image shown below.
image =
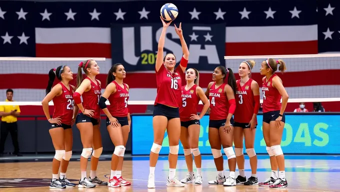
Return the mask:
<path id="1" fill-rule="evenodd" d="M 285 122 L 284 110 L 288 102 L 288 93 L 283 87 L 282 80 L 274 72 L 277 70 L 284 72 L 286 67 L 283 60 L 273 58 L 265 59 L 261 63 L 260 73 L 262 78 L 263 93 L 263 138 L 266 150 L 270 157 L 271 177 L 264 182 L 258 183 L 260 186 L 273 188 L 287 187 L 288 183 L 284 173 L 284 156 L 281 149 L 282 132 Z M 282 97 L 282 104 L 280 99 Z M 278 175 L 277 175 L 278 166 Z"/>

